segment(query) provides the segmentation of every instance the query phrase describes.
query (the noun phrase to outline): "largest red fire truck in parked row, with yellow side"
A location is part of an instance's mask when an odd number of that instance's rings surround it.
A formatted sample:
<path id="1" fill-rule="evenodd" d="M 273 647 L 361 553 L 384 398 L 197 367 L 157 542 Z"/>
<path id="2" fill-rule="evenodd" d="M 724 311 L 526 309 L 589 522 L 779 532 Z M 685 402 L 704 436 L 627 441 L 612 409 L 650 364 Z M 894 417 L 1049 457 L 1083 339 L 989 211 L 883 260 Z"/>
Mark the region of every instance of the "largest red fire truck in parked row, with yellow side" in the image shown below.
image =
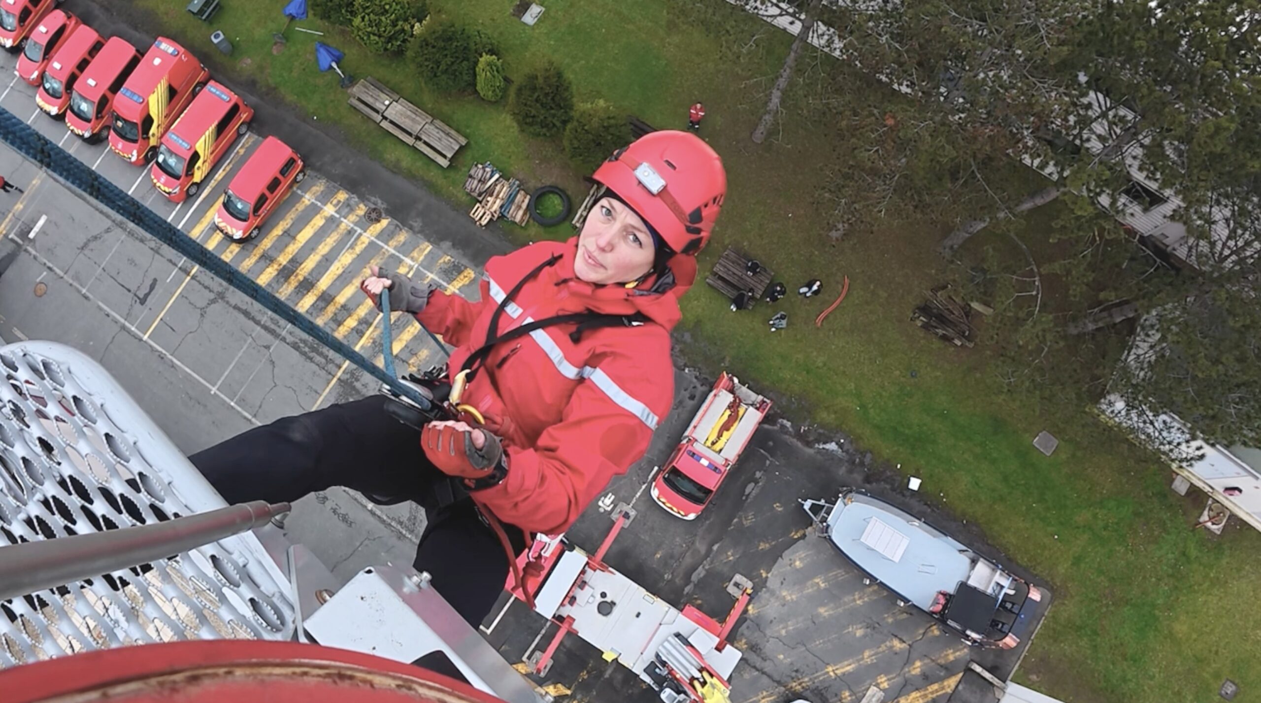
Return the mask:
<path id="1" fill-rule="evenodd" d="M 159 37 L 119 90 L 110 148 L 131 164 L 153 160 L 161 136 L 209 77 L 195 57 Z"/>

